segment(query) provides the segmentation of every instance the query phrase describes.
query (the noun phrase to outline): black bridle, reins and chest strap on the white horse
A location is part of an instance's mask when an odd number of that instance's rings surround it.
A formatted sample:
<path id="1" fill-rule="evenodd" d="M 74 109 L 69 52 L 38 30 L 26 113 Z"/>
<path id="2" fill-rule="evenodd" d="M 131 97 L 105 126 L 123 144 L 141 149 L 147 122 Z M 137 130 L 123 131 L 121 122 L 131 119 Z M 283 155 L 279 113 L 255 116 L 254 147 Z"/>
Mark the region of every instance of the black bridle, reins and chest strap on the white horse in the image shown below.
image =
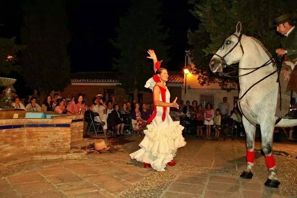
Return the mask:
<path id="1" fill-rule="evenodd" d="M 222 59 L 223 63 L 221 64 L 221 71 L 219 72 L 219 75 L 220 76 L 226 76 L 226 77 L 229 77 L 229 78 L 238 78 L 238 77 L 242 77 L 242 76 L 246 76 L 248 74 L 251 74 L 255 71 L 257 71 L 258 69 L 260 68 L 263 68 L 271 63 L 275 63 L 275 59 L 273 57 L 271 57 L 268 61 L 266 61 L 266 63 L 262 64 L 261 66 L 259 67 L 255 67 L 255 68 L 237 68 L 237 67 L 234 67 L 234 66 L 231 66 L 229 64 L 227 64 L 226 60 L 225 60 L 225 57 L 230 53 L 232 52 L 232 50 L 239 44 L 240 45 L 240 48 L 241 48 L 241 51 L 242 51 L 242 55 L 244 54 L 244 51 L 243 51 L 243 46 L 241 44 L 241 38 L 242 38 L 242 33 L 240 33 L 240 35 L 236 35 L 236 34 L 232 34 L 234 36 L 236 36 L 238 38 L 238 41 L 237 43 L 224 55 L 224 56 L 220 56 L 219 54 L 216 54 L 214 53 L 214 55 L 218 56 L 219 58 Z M 223 73 L 223 68 L 226 68 L 226 67 L 230 67 L 230 68 L 234 68 L 234 69 L 237 69 L 236 71 L 232 71 L 232 72 L 229 72 L 229 73 Z M 230 73 L 234 73 L 234 72 L 237 72 L 239 71 L 239 69 L 253 69 L 251 72 L 248 72 L 248 73 L 245 73 L 245 74 L 242 74 L 242 75 L 238 75 L 238 76 L 230 76 L 229 74 Z M 273 71 L 272 73 L 266 75 L 265 77 L 261 78 L 260 80 L 258 80 L 257 82 L 255 82 L 251 87 L 249 87 L 243 94 L 241 97 L 238 98 L 238 105 L 239 105 L 239 110 L 241 111 L 242 115 L 247 119 L 247 117 L 244 115 L 242 109 L 241 109 L 241 105 L 240 105 L 240 101 L 241 99 L 247 94 L 247 92 L 249 90 L 251 90 L 252 87 L 254 87 L 255 85 L 257 85 L 259 82 L 262 82 L 264 79 L 268 78 L 269 76 L 273 75 L 274 73 L 276 73 L 278 70 L 276 69 L 275 71 Z M 247 119 L 248 120 L 248 119 Z M 250 120 L 248 120 L 251 124 L 253 124 Z M 254 124 L 253 124 L 254 125 Z"/>

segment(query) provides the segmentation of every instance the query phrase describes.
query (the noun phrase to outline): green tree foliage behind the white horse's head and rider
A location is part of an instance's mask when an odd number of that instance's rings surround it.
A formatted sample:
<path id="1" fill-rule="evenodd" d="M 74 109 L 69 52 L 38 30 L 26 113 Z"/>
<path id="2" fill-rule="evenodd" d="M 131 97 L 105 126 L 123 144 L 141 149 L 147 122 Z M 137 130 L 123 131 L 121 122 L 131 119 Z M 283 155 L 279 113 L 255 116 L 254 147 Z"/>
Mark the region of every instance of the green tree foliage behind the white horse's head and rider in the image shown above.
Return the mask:
<path id="1" fill-rule="evenodd" d="M 280 47 L 280 35 L 276 28 L 271 28 L 270 21 L 280 14 L 294 14 L 297 9 L 297 4 L 289 0 L 190 0 L 189 3 L 193 4 L 192 14 L 200 21 L 197 31 L 188 31 L 188 39 L 196 71 L 204 74 L 204 79 L 200 79 L 202 84 L 214 82 L 217 77 L 210 72 L 209 61 L 212 53 L 235 32 L 238 21 L 243 34 L 262 41 L 274 54 Z M 224 82 L 227 81 L 220 80 L 222 88 L 226 87 Z"/>

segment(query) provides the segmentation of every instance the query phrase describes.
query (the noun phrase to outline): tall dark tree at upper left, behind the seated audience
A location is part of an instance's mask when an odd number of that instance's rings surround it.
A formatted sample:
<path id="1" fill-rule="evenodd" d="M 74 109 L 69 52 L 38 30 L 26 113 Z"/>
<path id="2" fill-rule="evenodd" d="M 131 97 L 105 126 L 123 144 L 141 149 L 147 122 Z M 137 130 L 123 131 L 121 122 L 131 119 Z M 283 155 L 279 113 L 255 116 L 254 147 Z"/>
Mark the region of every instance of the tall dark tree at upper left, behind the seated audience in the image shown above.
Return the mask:
<path id="1" fill-rule="evenodd" d="M 65 2 L 27 1 L 23 11 L 21 41 L 27 48 L 21 56 L 22 75 L 42 96 L 53 89 L 63 90 L 70 82 Z"/>

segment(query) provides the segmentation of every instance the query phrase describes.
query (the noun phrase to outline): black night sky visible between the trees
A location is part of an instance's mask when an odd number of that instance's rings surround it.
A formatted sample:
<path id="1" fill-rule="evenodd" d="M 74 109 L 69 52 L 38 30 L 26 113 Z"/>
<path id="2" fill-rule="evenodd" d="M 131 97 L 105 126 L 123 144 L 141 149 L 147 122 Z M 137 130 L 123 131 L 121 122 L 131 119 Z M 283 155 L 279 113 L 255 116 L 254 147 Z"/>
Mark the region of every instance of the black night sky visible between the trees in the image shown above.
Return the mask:
<path id="1" fill-rule="evenodd" d="M 17 36 L 19 42 L 22 25 L 21 1 L 0 3 L 0 24 L 4 24 L 1 35 Z M 184 50 L 188 48 L 187 30 L 196 29 L 198 21 L 188 12 L 187 1 L 163 0 L 162 25 L 169 28 L 171 45 L 169 70 L 180 70 L 184 64 Z M 130 0 L 68 1 L 69 45 L 71 71 L 109 71 L 116 50 L 109 39 L 116 37 L 119 16 L 127 12 Z M 86 55 L 89 57 L 85 59 Z M 144 57 L 145 58 L 145 57 Z"/>

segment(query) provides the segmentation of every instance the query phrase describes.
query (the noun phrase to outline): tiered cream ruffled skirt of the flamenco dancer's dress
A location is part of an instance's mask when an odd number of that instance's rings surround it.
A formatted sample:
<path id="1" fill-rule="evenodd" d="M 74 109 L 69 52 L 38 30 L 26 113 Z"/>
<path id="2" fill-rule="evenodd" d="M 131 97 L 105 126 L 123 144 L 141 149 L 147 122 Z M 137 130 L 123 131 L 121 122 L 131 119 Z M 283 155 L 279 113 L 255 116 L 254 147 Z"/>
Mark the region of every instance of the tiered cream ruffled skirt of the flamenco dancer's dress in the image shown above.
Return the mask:
<path id="1" fill-rule="evenodd" d="M 179 121 L 170 122 L 167 127 L 147 125 L 144 139 L 140 142 L 141 149 L 130 154 L 132 159 L 150 163 L 153 169 L 165 171 L 166 164 L 173 160 L 178 148 L 186 145 L 182 136 L 184 127 Z"/>

